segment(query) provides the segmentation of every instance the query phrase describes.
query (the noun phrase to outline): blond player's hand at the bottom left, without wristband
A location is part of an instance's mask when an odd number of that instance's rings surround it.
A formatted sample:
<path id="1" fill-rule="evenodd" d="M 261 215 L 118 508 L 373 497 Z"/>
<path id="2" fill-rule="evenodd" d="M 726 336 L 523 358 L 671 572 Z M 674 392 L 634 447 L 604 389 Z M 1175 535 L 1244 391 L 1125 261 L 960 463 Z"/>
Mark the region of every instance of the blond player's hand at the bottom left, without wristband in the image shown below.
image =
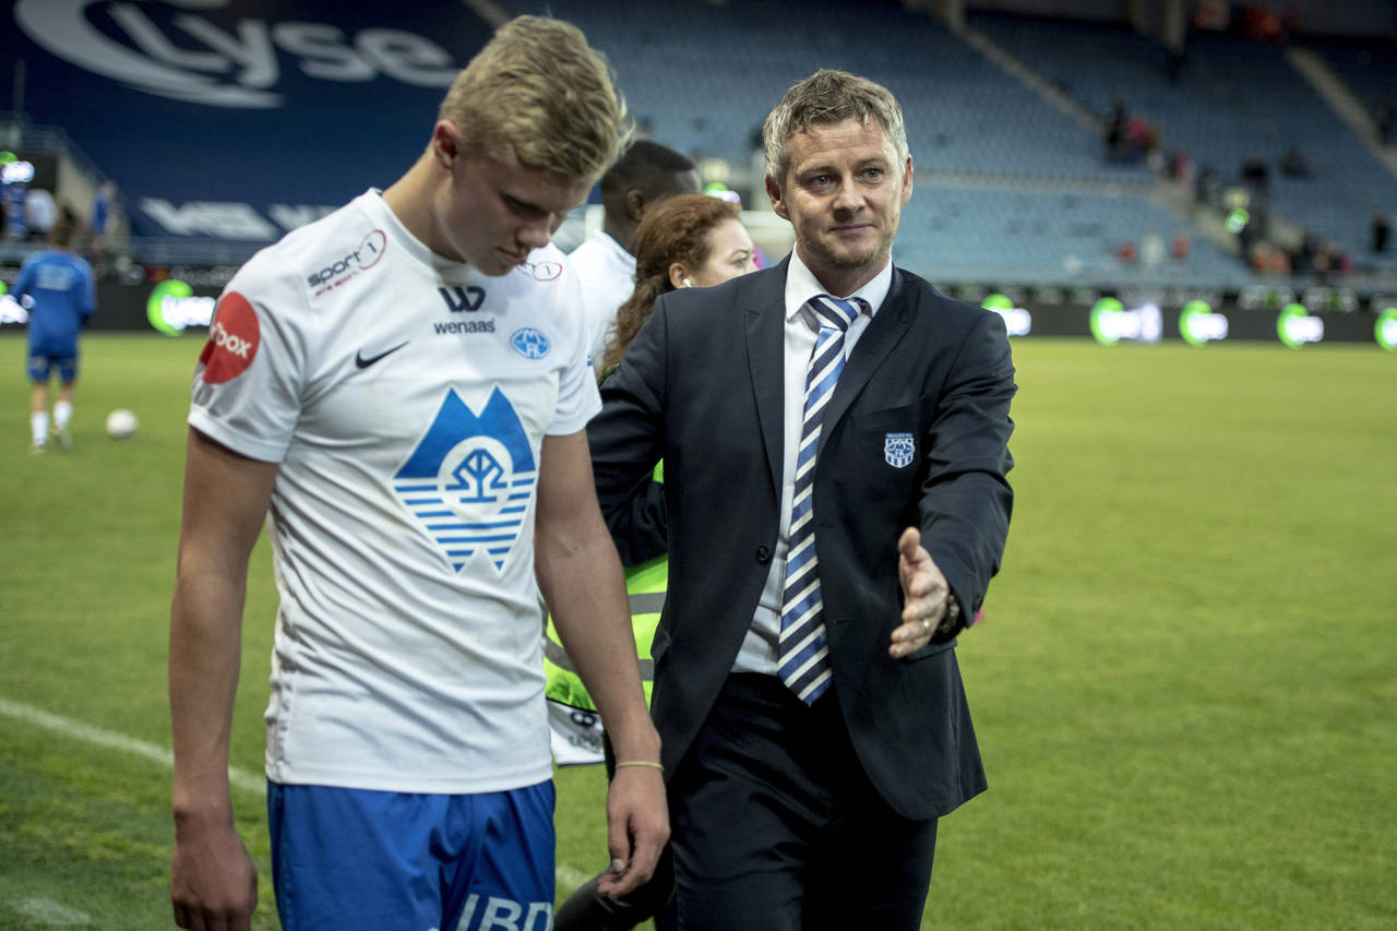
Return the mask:
<path id="1" fill-rule="evenodd" d="M 250 931 L 257 867 L 232 823 L 175 825 L 170 856 L 175 924 L 191 931 Z"/>

